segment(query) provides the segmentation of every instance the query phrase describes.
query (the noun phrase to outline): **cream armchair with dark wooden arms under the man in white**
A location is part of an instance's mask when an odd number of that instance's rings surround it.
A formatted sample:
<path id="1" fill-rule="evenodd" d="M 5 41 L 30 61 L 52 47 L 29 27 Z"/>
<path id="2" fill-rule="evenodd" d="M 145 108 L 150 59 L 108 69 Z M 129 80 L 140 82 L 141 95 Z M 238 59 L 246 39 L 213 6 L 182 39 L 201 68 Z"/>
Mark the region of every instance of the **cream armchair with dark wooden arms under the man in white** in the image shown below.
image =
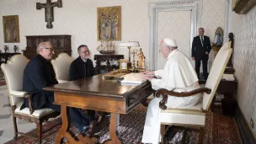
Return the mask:
<path id="1" fill-rule="evenodd" d="M 165 125 L 197 125 L 200 126 L 199 142 L 203 142 L 204 127 L 205 127 L 205 113 L 209 110 L 211 101 L 216 93 L 216 89 L 221 81 L 221 77 L 227 62 L 232 54 L 232 48 L 230 43 L 226 43 L 221 47 L 221 50 L 216 55 L 215 60 L 212 63 L 211 71 L 208 79 L 205 83 L 205 88 L 195 89 L 188 93 L 175 93 L 166 89 L 158 89 L 155 95 L 163 97 L 163 100 L 159 103 L 159 107 L 162 109 L 160 114 L 161 122 L 161 134 L 165 135 Z M 165 105 L 168 101 L 168 95 L 176 97 L 189 97 L 196 93 L 203 93 L 203 99 L 199 104 L 189 108 L 167 108 Z M 164 143 L 163 139 L 162 142 Z"/>

